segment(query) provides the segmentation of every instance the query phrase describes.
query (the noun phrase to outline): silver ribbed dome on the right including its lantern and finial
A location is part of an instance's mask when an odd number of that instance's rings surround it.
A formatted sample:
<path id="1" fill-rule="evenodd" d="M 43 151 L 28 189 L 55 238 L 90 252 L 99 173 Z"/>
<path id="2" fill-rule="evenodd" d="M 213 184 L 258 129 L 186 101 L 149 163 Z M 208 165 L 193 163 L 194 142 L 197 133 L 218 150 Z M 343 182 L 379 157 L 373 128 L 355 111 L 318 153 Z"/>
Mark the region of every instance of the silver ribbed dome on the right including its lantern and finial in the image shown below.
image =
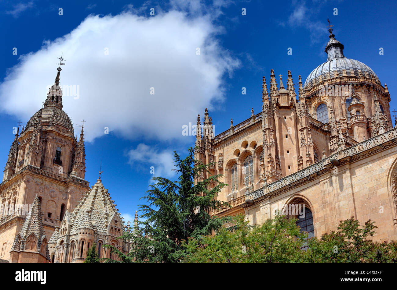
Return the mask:
<path id="1" fill-rule="evenodd" d="M 325 48 L 328 59 L 309 74 L 304 82 L 304 89 L 310 90 L 324 80 L 330 80 L 338 76 L 364 76 L 380 84 L 378 76 L 368 65 L 355 59 L 346 58 L 343 55 L 343 44 L 335 39 L 332 29 L 328 31 L 330 32 L 330 40 Z"/>

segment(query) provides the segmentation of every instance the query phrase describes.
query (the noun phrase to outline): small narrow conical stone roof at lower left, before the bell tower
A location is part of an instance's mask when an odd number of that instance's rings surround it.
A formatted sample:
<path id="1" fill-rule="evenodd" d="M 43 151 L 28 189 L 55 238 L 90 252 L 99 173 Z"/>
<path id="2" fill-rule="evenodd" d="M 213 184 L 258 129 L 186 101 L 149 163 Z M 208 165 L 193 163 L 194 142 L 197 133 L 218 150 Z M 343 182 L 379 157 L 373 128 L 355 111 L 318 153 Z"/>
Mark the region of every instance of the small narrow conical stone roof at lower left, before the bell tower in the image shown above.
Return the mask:
<path id="1" fill-rule="evenodd" d="M 44 236 L 44 227 L 41 217 L 41 204 L 37 195 L 33 200 L 32 208 L 27 214 L 25 223 L 21 229 L 22 237 L 27 237 L 27 235 L 30 235 L 31 233 L 34 233 L 39 239 Z"/>

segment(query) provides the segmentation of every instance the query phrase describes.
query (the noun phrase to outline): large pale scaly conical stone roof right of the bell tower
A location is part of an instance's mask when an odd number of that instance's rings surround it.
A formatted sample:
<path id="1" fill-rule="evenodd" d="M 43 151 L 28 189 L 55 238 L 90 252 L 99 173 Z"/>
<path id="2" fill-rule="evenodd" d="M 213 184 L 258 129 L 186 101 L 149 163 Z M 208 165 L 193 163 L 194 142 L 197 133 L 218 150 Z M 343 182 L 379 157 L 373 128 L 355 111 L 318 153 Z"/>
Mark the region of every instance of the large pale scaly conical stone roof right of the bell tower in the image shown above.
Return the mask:
<path id="1" fill-rule="evenodd" d="M 73 211 L 71 235 L 82 228 L 106 233 L 114 214 L 119 215 L 108 190 L 98 179 Z"/>

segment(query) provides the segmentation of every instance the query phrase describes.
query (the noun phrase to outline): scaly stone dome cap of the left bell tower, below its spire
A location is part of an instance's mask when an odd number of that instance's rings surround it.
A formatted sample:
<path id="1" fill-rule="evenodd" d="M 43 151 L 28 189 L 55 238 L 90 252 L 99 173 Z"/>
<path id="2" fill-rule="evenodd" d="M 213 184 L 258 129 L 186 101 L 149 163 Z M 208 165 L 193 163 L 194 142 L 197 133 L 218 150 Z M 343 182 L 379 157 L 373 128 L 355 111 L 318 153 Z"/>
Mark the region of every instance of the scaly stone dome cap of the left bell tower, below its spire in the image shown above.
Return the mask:
<path id="1" fill-rule="evenodd" d="M 37 111 L 27 122 L 26 128 L 33 125 L 37 118 L 39 118 L 40 110 Z M 72 130 L 72 122 L 62 109 L 56 106 L 45 106 L 41 111 L 41 123 L 43 125 L 55 124 L 57 126 L 63 126 L 68 130 Z"/>

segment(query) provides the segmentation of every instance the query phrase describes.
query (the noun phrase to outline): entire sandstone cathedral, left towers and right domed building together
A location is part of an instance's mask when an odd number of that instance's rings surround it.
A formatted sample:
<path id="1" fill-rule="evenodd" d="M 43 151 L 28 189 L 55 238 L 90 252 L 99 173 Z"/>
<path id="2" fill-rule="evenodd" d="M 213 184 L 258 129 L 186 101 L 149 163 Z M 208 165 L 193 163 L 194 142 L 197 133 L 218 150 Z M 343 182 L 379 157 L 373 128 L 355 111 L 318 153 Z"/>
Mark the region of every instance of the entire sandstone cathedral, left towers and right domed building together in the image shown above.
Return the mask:
<path id="1" fill-rule="evenodd" d="M 263 77 L 260 113 L 252 109 L 239 124 L 232 119 L 218 135 L 208 110 L 198 115 L 196 158 L 210 166 L 197 180 L 223 176 L 218 200 L 231 207 L 216 216 L 244 214 L 254 225 L 301 206 L 304 214 L 287 214 L 310 237 L 354 217 L 376 222 L 374 240 L 397 240 L 390 94 L 372 69 L 345 57 L 329 32 L 326 62 L 304 83 L 298 77 L 298 93 L 291 71 L 283 80 L 271 70 L 269 80 Z M 93 245 L 100 258 L 118 258 L 105 244 L 131 249 L 118 239 L 126 227 L 100 175 L 91 188 L 85 180 L 84 128 L 77 138 L 62 110 L 63 60 L 43 107 L 11 144 L 0 183 L 0 262 L 81 263 Z"/>

